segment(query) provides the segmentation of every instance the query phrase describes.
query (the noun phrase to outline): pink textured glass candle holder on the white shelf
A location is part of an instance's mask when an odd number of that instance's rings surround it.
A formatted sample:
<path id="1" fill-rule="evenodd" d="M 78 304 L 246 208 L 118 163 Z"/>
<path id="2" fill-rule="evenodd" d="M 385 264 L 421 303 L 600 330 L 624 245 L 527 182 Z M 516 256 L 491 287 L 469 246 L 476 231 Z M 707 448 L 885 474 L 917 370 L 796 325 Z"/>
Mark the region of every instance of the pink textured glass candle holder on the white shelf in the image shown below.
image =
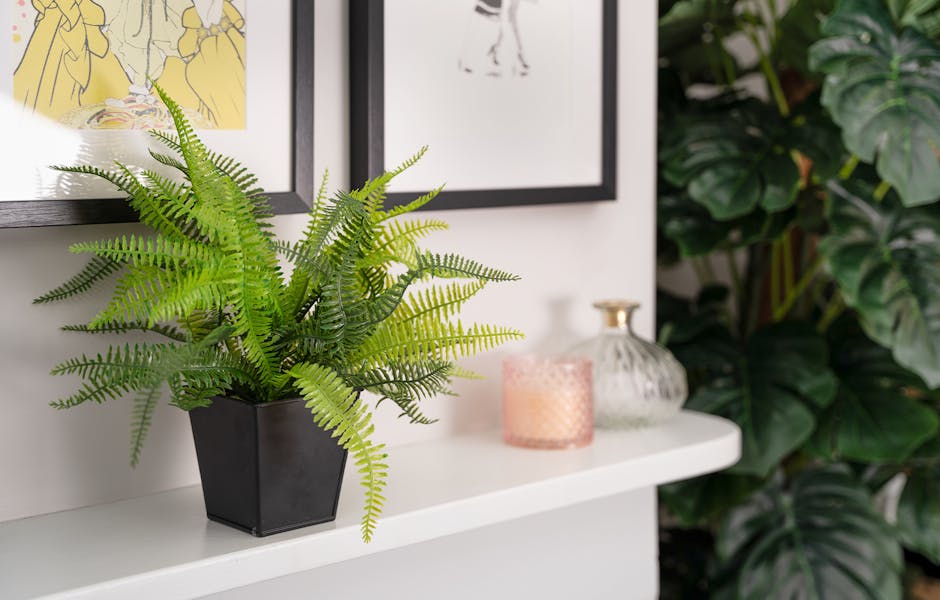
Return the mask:
<path id="1" fill-rule="evenodd" d="M 503 439 L 526 448 L 580 448 L 594 438 L 591 361 L 511 356 L 503 361 Z"/>

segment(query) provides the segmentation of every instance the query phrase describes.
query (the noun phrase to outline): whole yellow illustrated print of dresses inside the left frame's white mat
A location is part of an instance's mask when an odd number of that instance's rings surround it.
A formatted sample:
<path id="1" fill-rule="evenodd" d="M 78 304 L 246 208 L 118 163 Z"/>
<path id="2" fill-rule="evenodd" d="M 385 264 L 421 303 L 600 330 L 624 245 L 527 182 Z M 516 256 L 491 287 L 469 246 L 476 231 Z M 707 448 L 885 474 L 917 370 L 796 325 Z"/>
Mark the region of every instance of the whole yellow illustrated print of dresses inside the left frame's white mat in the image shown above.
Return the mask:
<path id="1" fill-rule="evenodd" d="M 14 97 L 68 127 L 166 128 L 156 81 L 195 127 L 245 127 L 245 18 L 232 0 L 32 0 Z"/>

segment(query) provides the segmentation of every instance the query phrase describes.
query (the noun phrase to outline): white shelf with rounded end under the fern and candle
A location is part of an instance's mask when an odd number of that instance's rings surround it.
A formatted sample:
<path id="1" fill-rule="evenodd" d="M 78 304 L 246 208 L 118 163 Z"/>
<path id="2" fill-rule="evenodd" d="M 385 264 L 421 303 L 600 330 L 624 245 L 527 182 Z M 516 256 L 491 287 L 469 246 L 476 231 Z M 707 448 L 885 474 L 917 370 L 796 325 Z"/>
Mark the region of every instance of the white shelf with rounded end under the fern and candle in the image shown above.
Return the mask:
<path id="1" fill-rule="evenodd" d="M 496 432 L 393 448 L 375 539 L 347 472 L 335 522 L 254 538 L 210 522 L 198 486 L 0 523 L 0 598 L 191 598 L 707 473 L 733 464 L 738 428 L 685 411 L 598 432 L 580 450 L 511 448 Z"/>

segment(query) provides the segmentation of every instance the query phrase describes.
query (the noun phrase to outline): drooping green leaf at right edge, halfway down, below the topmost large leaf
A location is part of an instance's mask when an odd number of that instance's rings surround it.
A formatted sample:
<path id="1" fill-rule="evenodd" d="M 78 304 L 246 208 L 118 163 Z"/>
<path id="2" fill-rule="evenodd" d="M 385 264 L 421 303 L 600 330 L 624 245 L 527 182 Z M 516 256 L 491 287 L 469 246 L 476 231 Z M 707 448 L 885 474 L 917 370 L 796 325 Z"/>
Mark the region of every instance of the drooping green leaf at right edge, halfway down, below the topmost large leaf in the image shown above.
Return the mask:
<path id="1" fill-rule="evenodd" d="M 832 181 L 831 233 L 820 243 L 865 332 L 931 387 L 940 385 L 940 213 L 904 208 L 894 194 Z"/>

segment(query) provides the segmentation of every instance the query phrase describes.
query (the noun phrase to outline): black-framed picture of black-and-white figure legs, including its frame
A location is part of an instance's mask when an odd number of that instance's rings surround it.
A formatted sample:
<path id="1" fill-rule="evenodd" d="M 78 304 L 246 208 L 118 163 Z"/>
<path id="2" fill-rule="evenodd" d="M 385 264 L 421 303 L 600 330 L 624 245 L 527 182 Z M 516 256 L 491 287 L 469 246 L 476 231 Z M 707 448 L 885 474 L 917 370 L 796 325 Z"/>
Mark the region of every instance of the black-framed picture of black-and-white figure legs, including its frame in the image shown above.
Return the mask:
<path id="1" fill-rule="evenodd" d="M 616 0 L 352 0 L 353 185 L 427 145 L 391 204 L 441 183 L 436 209 L 614 199 L 616 13 Z"/>

